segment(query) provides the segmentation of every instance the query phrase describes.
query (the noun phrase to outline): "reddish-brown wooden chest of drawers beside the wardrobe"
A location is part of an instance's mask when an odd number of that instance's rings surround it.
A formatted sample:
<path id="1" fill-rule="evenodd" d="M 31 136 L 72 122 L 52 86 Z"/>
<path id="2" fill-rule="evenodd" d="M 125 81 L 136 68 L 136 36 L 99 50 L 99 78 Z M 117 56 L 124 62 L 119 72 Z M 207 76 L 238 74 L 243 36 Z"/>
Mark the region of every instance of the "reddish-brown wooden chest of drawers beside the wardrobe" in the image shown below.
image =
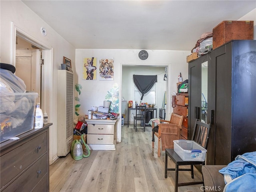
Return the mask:
<path id="1" fill-rule="evenodd" d="M 188 94 L 176 95 L 175 105 L 173 112 L 184 117 L 180 130 L 180 139 L 188 140 Z"/>

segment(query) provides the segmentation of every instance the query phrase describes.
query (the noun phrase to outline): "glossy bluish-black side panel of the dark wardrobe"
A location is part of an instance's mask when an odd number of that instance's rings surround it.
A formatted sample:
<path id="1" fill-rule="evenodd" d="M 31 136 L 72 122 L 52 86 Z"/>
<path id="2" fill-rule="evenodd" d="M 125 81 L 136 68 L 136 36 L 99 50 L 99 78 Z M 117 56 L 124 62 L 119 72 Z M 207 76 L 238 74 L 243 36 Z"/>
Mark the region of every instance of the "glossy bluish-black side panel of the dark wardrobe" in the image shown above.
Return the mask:
<path id="1" fill-rule="evenodd" d="M 256 41 L 232 45 L 232 153 L 256 150 Z"/>

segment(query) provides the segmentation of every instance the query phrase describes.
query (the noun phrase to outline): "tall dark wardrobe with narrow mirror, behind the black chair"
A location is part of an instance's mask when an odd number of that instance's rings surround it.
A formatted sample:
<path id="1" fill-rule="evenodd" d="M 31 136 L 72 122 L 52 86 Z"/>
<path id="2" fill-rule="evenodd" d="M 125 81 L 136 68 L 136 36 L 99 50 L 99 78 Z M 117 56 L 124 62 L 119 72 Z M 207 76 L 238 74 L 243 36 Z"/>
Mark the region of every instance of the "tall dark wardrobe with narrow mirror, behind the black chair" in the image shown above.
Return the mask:
<path id="1" fill-rule="evenodd" d="M 256 40 L 232 40 L 188 64 L 188 137 L 211 123 L 206 164 L 256 150 Z"/>

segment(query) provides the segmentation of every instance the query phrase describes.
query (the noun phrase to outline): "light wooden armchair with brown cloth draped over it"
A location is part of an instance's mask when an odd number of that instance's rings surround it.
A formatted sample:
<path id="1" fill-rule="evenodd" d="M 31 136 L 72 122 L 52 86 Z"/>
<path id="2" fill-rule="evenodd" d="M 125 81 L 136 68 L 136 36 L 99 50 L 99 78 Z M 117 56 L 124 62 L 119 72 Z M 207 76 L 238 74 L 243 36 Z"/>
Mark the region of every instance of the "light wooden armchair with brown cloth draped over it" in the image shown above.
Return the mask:
<path id="1" fill-rule="evenodd" d="M 158 138 L 158 157 L 160 157 L 161 150 L 161 137 L 162 137 L 162 128 L 164 128 L 167 134 L 171 134 L 171 138 L 165 138 L 165 143 L 167 142 L 170 145 L 162 145 L 162 150 L 165 148 L 173 148 L 173 140 L 180 139 L 180 129 L 183 121 L 183 116 L 172 113 L 170 121 L 160 120 L 161 124 L 158 125 L 158 132 L 152 132 L 152 137 L 157 136 Z M 154 122 L 152 122 L 152 129 L 155 127 Z M 154 148 L 154 141 L 152 141 L 152 148 Z"/>

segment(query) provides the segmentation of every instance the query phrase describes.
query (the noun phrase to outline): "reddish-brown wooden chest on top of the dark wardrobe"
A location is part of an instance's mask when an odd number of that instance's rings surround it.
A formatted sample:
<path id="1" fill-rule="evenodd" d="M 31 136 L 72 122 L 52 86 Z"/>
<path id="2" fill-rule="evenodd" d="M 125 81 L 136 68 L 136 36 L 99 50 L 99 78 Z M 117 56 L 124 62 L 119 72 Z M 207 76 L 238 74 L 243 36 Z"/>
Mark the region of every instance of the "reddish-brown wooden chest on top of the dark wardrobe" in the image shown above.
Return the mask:
<path id="1" fill-rule="evenodd" d="M 230 40 L 253 40 L 253 21 L 222 21 L 212 30 L 212 48 Z"/>

